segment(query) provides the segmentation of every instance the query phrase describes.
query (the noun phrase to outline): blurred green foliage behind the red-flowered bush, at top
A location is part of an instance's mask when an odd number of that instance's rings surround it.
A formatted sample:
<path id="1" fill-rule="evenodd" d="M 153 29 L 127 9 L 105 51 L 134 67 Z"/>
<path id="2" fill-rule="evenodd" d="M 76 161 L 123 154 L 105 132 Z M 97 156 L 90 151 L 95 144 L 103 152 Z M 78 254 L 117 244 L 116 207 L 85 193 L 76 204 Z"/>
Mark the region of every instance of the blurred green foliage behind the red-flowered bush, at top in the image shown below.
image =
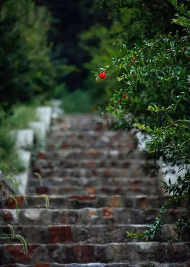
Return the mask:
<path id="1" fill-rule="evenodd" d="M 89 91 L 96 106 L 105 107 L 113 92 L 117 93 L 121 88 L 115 77 L 123 70 L 122 66 L 112 65 L 106 74 L 107 79 L 103 81 L 98 79 L 96 85 L 93 83 L 90 71 L 95 70 L 97 66 L 111 65 L 112 59 L 122 57 L 121 53 L 126 55 L 127 49 L 130 51 L 137 44 L 140 46 L 142 36 L 153 38 L 161 30 L 167 33 L 175 28 L 174 24 L 171 25 L 175 8 L 169 1 L 118 0 L 98 1 L 98 4 L 104 12 L 108 12 L 111 26 L 110 28 L 100 24 L 91 26 L 88 31 L 80 34 L 80 47 L 91 57 L 91 60 L 84 64 L 87 74 L 84 89 Z M 99 72 L 103 70 L 100 68 Z M 141 110 L 147 108 L 143 101 L 140 105 Z M 136 109 L 139 110 L 139 106 Z"/>

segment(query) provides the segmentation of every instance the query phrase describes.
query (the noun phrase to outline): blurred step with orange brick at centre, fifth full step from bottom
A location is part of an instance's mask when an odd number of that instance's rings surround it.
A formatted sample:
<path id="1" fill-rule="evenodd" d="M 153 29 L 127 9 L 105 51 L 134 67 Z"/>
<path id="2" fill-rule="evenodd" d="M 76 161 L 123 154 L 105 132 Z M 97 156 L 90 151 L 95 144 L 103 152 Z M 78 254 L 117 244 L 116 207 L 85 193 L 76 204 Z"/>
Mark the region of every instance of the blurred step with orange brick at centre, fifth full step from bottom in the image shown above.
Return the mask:
<path id="1" fill-rule="evenodd" d="M 64 195 L 85 195 L 85 194 L 106 194 L 106 195 L 127 195 L 156 194 L 158 189 L 155 186 L 31 186 L 30 193 L 38 194 L 64 194 Z"/>

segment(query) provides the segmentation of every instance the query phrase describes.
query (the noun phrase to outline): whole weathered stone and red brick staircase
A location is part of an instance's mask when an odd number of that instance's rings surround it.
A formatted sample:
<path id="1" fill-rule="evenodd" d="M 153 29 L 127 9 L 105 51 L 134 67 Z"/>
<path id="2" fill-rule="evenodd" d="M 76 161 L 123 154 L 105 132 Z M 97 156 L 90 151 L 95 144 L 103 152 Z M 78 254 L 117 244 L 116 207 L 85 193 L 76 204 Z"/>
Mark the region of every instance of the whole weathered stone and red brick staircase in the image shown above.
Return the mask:
<path id="1" fill-rule="evenodd" d="M 1 244 L 1 266 L 14 267 L 145 267 L 162 252 L 173 234 L 173 217 L 187 213 L 183 205 L 167 213 L 162 235 L 153 242 L 126 237 L 153 223 L 162 203 L 157 176 L 145 176 L 142 155 L 132 148 L 134 136 L 96 125 L 92 115 L 54 119 L 46 153 L 32 161 L 26 199 L 1 204 L 1 220 L 25 237 L 28 253 L 16 243 Z M 49 197 L 49 209 L 40 194 Z M 9 233 L 6 225 L 2 226 Z M 188 238 L 188 237 L 187 237 Z M 168 246 L 161 267 L 189 266 L 188 239 Z"/>

